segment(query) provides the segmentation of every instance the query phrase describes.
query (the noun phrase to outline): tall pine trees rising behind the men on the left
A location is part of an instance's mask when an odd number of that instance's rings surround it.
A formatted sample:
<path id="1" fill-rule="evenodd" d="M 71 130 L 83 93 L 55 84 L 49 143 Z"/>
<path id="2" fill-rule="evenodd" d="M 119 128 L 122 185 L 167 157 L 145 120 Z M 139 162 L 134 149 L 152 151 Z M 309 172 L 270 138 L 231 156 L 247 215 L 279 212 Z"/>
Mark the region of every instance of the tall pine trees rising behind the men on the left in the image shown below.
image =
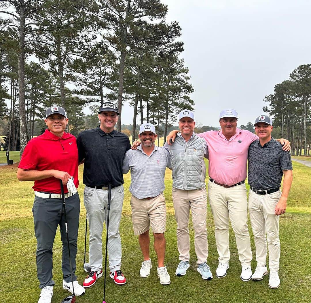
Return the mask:
<path id="1" fill-rule="evenodd" d="M 133 106 L 132 140 L 143 122 L 164 125 L 166 136 L 176 112 L 194 105 L 181 28 L 166 21 L 167 12 L 160 0 L 2 0 L 0 119 L 8 123 L 7 146 L 17 149 L 19 142 L 22 153 L 53 104 L 66 109 L 68 131 L 77 135 L 96 120 L 94 108 L 89 117 L 83 108 L 107 100 L 121 113 L 118 131 L 123 103 Z"/>

